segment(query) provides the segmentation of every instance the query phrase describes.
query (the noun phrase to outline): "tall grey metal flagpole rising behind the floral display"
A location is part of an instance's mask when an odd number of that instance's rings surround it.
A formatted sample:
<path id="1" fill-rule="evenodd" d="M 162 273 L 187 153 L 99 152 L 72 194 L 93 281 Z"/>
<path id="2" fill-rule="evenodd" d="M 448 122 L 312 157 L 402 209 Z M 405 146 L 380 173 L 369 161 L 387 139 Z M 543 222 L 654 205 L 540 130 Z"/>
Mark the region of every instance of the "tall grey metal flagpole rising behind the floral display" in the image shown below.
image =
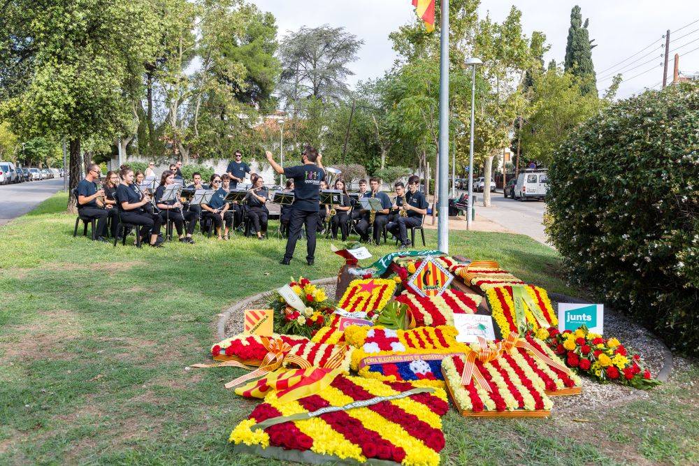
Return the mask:
<path id="1" fill-rule="evenodd" d="M 439 83 L 438 249 L 449 253 L 449 0 L 442 0 Z"/>

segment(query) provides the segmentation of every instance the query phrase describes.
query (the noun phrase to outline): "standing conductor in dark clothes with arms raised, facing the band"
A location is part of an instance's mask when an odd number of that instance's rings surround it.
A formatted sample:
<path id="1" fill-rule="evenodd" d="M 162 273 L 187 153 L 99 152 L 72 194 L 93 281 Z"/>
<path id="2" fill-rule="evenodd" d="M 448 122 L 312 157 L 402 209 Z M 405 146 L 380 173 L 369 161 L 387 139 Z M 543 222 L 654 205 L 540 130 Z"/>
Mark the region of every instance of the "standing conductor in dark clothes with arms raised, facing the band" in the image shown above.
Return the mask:
<path id="1" fill-rule="evenodd" d="M 301 165 L 283 168 L 274 161 L 272 152 L 266 151 L 267 161 L 275 172 L 294 180 L 294 203 L 291 204 L 291 218 L 289 219 L 289 238 L 287 239 L 287 251 L 282 265 L 289 265 L 296 249 L 296 240 L 301 233 L 301 226 L 305 224 L 306 240 L 308 243 L 308 265 L 313 265 L 315 260 L 315 230 L 318 221 L 320 207 L 320 182 L 325 178 L 325 170 L 321 160 L 323 156 L 313 147 L 306 147 L 301 155 Z"/>

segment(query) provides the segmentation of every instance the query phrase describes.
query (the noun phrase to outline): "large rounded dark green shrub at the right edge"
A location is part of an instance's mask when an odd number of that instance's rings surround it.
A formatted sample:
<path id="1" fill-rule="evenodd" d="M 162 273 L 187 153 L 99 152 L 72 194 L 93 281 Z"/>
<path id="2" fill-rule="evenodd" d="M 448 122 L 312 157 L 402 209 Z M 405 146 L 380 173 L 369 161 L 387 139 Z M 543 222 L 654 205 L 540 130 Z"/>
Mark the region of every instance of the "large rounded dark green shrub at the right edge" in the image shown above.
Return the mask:
<path id="1" fill-rule="evenodd" d="M 603 110 L 549 170 L 547 231 L 572 278 L 699 354 L 699 83 Z"/>

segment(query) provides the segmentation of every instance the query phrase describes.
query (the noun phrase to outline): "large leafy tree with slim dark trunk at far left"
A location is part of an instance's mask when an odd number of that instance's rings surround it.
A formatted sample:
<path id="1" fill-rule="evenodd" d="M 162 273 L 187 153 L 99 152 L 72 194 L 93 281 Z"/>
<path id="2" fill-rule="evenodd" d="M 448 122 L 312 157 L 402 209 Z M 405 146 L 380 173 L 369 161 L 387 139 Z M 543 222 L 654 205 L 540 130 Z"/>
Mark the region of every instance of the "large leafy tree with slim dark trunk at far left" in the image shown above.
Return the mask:
<path id="1" fill-rule="evenodd" d="M 80 180 L 80 144 L 111 139 L 131 122 L 126 97 L 154 50 L 154 15 L 145 0 L 31 0 L 3 5 L 0 61 L 8 100 L 2 112 L 24 136 L 66 136 L 71 188 Z M 69 210 L 74 210 L 71 196 Z"/>

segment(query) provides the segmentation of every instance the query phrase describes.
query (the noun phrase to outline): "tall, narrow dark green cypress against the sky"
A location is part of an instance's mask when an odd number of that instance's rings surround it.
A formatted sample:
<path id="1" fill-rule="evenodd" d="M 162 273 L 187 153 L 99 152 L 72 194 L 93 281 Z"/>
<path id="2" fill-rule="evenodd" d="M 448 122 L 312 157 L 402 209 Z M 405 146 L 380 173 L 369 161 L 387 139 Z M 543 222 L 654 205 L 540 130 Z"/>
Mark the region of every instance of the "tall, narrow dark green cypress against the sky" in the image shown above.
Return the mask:
<path id="1" fill-rule="evenodd" d="M 568 28 L 568 44 L 565 45 L 565 71 L 570 71 L 577 76 L 580 89 L 583 94 L 597 92 L 595 66 L 592 62 L 592 45 L 590 34 L 587 30 L 589 20 L 582 24 L 582 12 L 579 6 L 574 6 L 570 11 L 570 28 Z"/>

